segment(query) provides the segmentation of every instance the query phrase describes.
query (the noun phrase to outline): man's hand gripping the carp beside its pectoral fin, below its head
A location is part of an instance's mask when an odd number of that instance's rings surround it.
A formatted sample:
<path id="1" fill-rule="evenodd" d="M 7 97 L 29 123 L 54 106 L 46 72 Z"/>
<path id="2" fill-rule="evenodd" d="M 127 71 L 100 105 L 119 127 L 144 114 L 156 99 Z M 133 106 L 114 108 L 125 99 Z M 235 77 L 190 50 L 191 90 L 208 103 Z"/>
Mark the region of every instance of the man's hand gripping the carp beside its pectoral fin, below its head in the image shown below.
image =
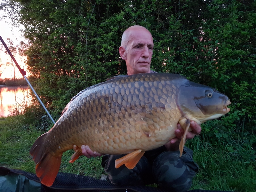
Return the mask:
<path id="1" fill-rule="evenodd" d="M 187 133 L 186 139 L 193 139 L 195 135 L 199 135 L 202 130 L 201 126 L 198 125 L 195 121 L 191 121 L 190 127 L 192 131 Z M 181 128 L 180 124 L 178 123 L 177 129 L 175 130 L 176 137 L 171 139 L 168 143 L 166 143 L 165 147 L 170 151 L 179 150 L 179 144 L 183 134 L 184 134 L 184 130 Z"/>

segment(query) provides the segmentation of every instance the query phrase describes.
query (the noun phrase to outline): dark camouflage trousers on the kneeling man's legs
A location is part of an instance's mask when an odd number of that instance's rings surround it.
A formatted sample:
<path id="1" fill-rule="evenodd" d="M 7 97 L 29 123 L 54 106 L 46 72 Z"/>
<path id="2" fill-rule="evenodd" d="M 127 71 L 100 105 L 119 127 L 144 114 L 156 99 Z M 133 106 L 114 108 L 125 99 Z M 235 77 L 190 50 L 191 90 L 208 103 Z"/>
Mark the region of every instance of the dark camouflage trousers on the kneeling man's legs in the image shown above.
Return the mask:
<path id="1" fill-rule="evenodd" d="M 120 186 L 157 183 L 160 188 L 171 191 L 187 191 L 198 172 L 198 165 L 192 158 L 193 151 L 187 147 L 184 147 L 181 157 L 179 151 L 167 151 L 164 146 L 146 151 L 133 169 L 125 165 L 116 169 L 115 160 L 123 156 L 104 155 L 101 162 L 108 179 Z"/>

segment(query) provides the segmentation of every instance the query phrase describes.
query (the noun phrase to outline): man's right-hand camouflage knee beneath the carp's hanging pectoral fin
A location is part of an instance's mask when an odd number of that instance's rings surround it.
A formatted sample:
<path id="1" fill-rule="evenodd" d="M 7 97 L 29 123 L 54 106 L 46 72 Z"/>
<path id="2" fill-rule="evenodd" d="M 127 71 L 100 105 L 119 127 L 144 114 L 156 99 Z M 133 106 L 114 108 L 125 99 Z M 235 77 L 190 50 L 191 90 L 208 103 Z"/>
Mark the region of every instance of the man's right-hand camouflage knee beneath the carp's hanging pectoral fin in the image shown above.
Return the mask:
<path id="1" fill-rule="evenodd" d="M 198 165 L 193 161 L 192 150 L 186 149 L 181 157 L 178 151 L 165 151 L 155 159 L 153 175 L 160 187 L 174 191 L 186 191 L 191 187 Z"/>

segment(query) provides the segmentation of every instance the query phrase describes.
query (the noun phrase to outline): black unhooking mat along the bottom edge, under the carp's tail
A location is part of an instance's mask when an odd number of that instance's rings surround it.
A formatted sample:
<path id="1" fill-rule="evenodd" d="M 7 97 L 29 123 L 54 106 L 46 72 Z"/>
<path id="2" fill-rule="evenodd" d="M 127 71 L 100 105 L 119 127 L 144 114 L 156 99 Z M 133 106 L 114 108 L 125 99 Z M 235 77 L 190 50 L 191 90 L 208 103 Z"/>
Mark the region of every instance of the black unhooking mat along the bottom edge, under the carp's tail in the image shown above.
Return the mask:
<path id="1" fill-rule="evenodd" d="M 59 172 L 51 187 L 40 183 L 36 174 L 17 169 L 0 167 L 1 192 L 166 192 L 166 190 L 147 186 L 116 186 L 105 180 L 88 176 Z M 189 192 L 217 192 L 190 190 Z M 219 191 L 220 192 L 220 191 Z"/>

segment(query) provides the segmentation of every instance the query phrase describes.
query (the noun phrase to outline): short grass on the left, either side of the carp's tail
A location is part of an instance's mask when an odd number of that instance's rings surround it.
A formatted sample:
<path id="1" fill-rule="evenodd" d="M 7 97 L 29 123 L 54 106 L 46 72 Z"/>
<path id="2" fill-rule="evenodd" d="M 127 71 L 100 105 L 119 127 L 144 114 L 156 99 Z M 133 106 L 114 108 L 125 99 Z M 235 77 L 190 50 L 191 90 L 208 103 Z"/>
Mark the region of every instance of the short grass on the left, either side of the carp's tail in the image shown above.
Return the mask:
<path id="1" fill-rule="evenodd" d="M 36 124 L 24 124 L 24 115 L 0 118 L 0 166 L 35 173 L 35 163 L 29 150 L 35 140 L 45 131 L 36 129 Z M 101 158 L 79 157 L 68 163 L 73 151 L 63 153 L 60 172 L 87 175 L 99 179 L 103 173 Z"/>

